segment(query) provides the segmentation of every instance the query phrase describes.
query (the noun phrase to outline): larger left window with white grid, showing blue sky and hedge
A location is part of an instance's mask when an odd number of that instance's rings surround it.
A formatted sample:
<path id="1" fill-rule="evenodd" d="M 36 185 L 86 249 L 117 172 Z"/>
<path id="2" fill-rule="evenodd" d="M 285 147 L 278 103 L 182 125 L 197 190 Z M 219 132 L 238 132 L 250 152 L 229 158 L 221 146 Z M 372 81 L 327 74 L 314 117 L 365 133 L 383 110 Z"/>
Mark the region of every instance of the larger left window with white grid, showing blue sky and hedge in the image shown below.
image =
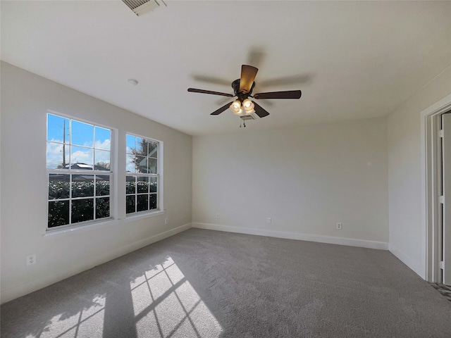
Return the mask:
<path id="1" fill-rule="evenodd" d="M 47 114 L 47 227 L 109 218 L 111 130 Z"/>

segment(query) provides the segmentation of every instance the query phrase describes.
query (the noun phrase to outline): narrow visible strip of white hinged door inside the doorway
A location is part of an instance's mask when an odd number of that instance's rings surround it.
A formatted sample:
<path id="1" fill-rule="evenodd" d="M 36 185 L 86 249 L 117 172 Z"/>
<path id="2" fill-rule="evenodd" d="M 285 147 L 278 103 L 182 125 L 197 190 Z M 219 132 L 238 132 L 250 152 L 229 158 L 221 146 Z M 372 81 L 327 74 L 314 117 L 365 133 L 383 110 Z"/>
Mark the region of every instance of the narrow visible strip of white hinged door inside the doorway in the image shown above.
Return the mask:
<path id="1" fill-rule="evenodd" d="M 442 282 L 451 285 L 451 113 L 442 115 Z"/>

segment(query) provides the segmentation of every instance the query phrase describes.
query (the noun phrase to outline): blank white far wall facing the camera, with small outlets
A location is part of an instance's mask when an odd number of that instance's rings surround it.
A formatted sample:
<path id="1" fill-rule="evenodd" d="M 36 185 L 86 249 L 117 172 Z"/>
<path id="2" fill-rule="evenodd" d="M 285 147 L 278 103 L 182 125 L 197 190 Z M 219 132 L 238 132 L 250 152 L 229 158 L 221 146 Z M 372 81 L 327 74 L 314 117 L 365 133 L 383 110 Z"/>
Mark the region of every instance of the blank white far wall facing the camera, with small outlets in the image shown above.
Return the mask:
<path id="1" fill-rule="evenodd" d="M 388 249 L 387 154 L 386 118 L 193 137 L 192 224 Z"/>

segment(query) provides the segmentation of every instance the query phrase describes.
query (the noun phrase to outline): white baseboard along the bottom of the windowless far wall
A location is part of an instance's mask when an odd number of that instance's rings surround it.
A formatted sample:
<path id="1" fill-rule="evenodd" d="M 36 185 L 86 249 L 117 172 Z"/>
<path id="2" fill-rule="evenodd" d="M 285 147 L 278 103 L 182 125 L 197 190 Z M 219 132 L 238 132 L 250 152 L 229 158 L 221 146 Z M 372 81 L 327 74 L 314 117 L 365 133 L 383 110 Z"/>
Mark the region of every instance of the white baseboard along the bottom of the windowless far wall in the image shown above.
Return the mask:
<path id="1" fill-rule="evenodd" d="M 199 229 L 218 230 L 226 232 L 237 232 L 240 234 L 256 234 L 258 236 L 278 237 L 286 239 L 298 239 L 308 242 L 319 242 L 328 244 L 340 244 L 348 246 L 359 246 L 362 248 L 388 250 L 388 243 L 366 241 L 364 239 L 352 239 L 342 237 L 323 236 L 320 234 L 301 234 L 299 232 L 285 232 L 274 230 L 253 229 L 249 227 L 233 227 L 230 225 L 216 225 L 209 223 L 192 223 L 192 227 Z"/>

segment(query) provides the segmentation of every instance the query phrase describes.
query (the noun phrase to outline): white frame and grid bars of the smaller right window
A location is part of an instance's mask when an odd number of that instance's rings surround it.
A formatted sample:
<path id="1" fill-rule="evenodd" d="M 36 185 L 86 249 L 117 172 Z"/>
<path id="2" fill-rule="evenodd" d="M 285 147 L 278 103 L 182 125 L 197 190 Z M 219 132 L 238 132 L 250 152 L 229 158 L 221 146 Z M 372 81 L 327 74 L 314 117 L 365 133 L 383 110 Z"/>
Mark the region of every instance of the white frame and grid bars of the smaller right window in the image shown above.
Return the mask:
<path id="1" fill-rule="evenodd" d="M 156 157 L 156 173 L 130 173 L 125 169 L 125 180 L 124 183 L 127 182 L 127 177 L 135 177 L 135 182 L 137 182 L 137 177 L 154 177 L 156 178 L 156 208 L 148 209 L 147 211 L 137 211 L 137 196 L 139 193 L 137 192 L 137 184 L 135 184 L 135 193 L 128 194 L 125 187 L 125 218 L 137 218 L 137 217 L 145 217 L 148 215 L 159 215 L 164 211 L 163 208 L 163 142 L 159 139 L 153 139 L 152 137 L 146 137 L 139 134 L 135 134 L 132 132 L 125 133 L 125 158 L 130 154 L 127 152 L 127 135 L 133 137 L 139 137 L 140 139 L 144 139 L 147 142 L 156 142 L 158 144 L 157 148 L 157 157 Z M 127 161 L 127 160 L 126 160 Z M 126 164 L 125 164 L 126 165 Z M 151 194 L 148 192 L 147 194 Z M 127 213 L 127 196 L 135 196 L 135 212 Z M 149 207 L 150 207 L 150 201 Z"/>

